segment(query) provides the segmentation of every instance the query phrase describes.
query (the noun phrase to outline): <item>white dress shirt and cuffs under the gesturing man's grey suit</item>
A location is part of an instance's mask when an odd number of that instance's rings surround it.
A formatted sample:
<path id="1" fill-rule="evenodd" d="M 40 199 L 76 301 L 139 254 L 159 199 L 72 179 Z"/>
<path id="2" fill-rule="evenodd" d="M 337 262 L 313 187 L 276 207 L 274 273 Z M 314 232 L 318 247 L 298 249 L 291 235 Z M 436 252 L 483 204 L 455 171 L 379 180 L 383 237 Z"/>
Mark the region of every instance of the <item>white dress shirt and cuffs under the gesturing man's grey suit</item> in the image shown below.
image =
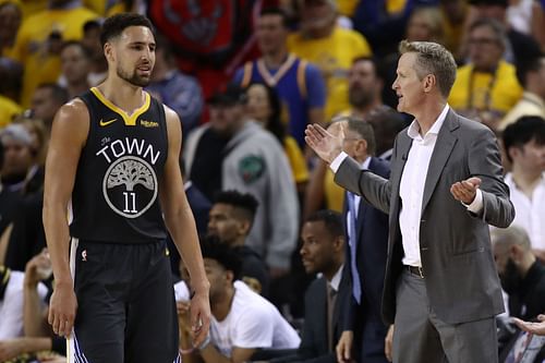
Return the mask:
<path id="1" fill-rule="evenodd" d="M 407 164 L 401 176 L 399 195 L 402 201 L 399 214 L 399 226 L 401 229 L 401 239 L 403 243 L 404 257 L 403 265 L 422 266 L 420 259 L 420 220 L 422 216 L 422 199 L 424 196 L 424 186 L 426 183 L 427 169 L 434 152 L 437 135 L 445 122 L 449 110 L 446 105 L 441 113 L 435 120 L 432 129 L 422 137 L 420 125 L 414 120 L 407 133 L 413 140 Z M 341 153 L 331 162 L 330 168 L 337 172 L 342 161 L 347 158 L 346 153 Z M 483 207 L 483 195 L 477 189 L 474 201 L 467 205 L 468 209 L 479 213 Z"/>

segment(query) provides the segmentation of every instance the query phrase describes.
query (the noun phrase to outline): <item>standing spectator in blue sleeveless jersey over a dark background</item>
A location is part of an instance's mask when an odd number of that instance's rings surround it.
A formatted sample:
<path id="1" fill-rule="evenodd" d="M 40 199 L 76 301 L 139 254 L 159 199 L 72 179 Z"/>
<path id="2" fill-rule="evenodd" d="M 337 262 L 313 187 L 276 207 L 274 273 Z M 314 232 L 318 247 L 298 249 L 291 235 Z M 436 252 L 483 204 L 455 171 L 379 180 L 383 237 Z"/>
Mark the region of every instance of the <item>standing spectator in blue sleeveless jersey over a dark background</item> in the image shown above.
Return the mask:
<path id="1" fill-rule="evenodd" d="M 319 70 L 288 52 L 288 17 L 277 8 L 262 11 L 256 37 L 263 57 L 246 62 L 234 74 L 234 83 L 247 87 L 264 83 L 275 88 L 288 107 L 288 130 L 304 149 L 304 129 L 324 122 L 326 89 Z"/>

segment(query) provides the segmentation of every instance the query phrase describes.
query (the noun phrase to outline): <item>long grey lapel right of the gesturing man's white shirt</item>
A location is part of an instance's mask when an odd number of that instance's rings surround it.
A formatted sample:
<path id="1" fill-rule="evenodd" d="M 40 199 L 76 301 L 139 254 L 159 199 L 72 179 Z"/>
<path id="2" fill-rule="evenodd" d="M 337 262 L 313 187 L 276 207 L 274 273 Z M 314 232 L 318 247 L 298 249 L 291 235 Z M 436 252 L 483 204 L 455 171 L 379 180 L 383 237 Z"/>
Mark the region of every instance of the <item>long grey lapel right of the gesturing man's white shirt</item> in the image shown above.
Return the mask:
<path id="1" fill-rule="evenodd" d="M 437 141 L 435 143 L 429 167 L 427 169 L 426 182 L 424 184 L 424 195 L 422 197 L 422 213 L 425 210 L 432 194 L 437 185 L 439 177 L 445 169 L 445 165 L 455 148 L 458 137 L 452 134 L 452 131 L 458 129 L 459 123 L 456 113 L 449 110 L 447 118 L 439 130 Z"/>

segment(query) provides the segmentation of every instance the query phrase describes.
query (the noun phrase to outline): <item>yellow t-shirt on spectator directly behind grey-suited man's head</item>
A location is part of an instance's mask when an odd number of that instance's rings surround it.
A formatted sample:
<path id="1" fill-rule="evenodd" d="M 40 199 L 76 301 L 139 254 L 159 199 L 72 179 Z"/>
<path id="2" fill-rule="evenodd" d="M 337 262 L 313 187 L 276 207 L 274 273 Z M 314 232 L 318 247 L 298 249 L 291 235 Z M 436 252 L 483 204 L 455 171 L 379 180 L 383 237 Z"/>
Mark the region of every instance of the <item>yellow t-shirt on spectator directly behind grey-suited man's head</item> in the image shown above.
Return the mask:
<path id="1" fill-rule="evenodd" d="M 470 90 L 473 73 L 473 90 Z M 492 88 L 491 88 L 492 85 Z M 479 111 L 507 113 L 522 97 L 522 87 L 517 81 L 513 65 L 500 61 L 496 74 L 473 72 L 473 65 L 458 69 L 458 76 L 448 98 L 449 105 L 458 111 L 467 111 L 473 105 Z M 473 101 L 470 101 L 473 95 Z"/>

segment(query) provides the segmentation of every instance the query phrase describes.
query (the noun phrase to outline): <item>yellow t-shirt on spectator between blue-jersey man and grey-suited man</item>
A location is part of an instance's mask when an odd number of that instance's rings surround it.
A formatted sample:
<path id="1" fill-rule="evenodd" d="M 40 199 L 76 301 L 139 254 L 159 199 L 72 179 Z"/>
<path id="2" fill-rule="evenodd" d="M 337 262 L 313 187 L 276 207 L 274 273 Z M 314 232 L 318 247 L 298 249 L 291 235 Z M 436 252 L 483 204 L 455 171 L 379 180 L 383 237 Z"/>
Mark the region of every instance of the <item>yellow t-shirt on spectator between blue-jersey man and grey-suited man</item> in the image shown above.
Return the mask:
<path id="1" fill-rule="evenodd" d="M 336 27 L 329 37 L 322 39 L 307 39 L 295 33 L 288 37 L 288 49 L 322 71 L 327 87 L 326 120 L 350 107 L 348 71 L 355 58 L 372 55 L 360 33 Z"/>

